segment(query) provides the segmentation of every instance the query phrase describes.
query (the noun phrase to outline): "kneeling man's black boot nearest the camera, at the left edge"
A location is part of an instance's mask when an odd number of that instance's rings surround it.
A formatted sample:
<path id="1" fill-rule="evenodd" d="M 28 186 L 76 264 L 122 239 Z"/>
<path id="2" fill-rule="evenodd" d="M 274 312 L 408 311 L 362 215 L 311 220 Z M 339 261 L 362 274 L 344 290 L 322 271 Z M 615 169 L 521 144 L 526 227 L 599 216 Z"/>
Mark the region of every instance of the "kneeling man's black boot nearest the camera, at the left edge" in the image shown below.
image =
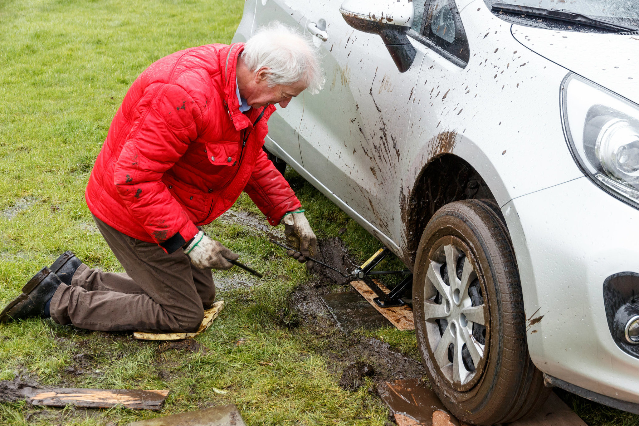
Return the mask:
<path id="1" fill-rule="evenodd" d="M 58 275 L 52 273 L 49 268 L 42 268 L 42 271 L 36 273 L 22 287 L 22 294 L 13 299 L 0 313 L 0 323 L 31 317 L 47 317 L 45 307 L 60 284 Z"/>

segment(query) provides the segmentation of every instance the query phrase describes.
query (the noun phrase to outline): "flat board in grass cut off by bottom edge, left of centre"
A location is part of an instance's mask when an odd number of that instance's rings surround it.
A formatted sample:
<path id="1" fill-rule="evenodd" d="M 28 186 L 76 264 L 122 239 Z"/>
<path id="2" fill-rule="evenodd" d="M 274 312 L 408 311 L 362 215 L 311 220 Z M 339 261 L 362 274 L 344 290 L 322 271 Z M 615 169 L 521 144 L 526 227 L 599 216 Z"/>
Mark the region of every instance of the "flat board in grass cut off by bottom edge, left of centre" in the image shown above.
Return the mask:
<path id="1" fill-rule="evenodd" d="M 173 416 L 156 417 L 128 426 L 246 426 L 235 404 L 189 411 Z"/>

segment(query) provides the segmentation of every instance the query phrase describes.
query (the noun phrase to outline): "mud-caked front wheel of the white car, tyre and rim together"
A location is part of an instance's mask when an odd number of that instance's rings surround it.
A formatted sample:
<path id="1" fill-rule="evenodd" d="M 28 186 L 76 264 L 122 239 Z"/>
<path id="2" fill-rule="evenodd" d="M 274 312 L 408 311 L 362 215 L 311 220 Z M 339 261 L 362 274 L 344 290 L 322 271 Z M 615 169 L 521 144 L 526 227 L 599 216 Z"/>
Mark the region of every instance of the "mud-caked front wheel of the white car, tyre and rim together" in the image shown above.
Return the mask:
<path id="1" fill-rule="evenodd" d="M 419 351 L 454 416 L 509 423 L 543 404 L 550 389 L 528 354 L 519 272 L 497 204 L 456 201 L 436 211 L 413 277 Z"/>

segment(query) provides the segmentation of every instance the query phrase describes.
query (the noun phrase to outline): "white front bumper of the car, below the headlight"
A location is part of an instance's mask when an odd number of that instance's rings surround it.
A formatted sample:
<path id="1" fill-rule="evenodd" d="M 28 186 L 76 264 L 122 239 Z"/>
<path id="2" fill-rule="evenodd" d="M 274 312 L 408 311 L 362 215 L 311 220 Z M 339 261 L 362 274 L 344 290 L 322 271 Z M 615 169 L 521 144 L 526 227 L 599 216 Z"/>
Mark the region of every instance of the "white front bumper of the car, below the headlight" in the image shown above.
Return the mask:
<path id="1" fill-rule="evenodd" d="M 502 207 L 521 275 L 530 357 L 544 373 L 639 403 L 639 358 L 615 344 L 603 283 L 639 272 L 639 211 L 583 177 Z"/>

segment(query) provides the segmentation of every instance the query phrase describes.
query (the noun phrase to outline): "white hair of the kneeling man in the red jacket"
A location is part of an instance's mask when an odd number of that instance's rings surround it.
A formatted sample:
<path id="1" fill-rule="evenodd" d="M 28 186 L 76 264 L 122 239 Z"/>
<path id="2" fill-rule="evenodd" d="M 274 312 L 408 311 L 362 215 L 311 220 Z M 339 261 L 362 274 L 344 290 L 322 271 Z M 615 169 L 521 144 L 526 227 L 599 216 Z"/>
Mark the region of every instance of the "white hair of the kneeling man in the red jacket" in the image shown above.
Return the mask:
<path id="1" fill-rule="evenodd" d="M 271 22 L 253 34 L 244 46 L 242 59 L 250 72 L 268 68 L 266 81 L 270 87 L 302 81 L 309 92 L 318 93 L 325 82 L 319 50 L 309 38 L 281 22 Z"/>

